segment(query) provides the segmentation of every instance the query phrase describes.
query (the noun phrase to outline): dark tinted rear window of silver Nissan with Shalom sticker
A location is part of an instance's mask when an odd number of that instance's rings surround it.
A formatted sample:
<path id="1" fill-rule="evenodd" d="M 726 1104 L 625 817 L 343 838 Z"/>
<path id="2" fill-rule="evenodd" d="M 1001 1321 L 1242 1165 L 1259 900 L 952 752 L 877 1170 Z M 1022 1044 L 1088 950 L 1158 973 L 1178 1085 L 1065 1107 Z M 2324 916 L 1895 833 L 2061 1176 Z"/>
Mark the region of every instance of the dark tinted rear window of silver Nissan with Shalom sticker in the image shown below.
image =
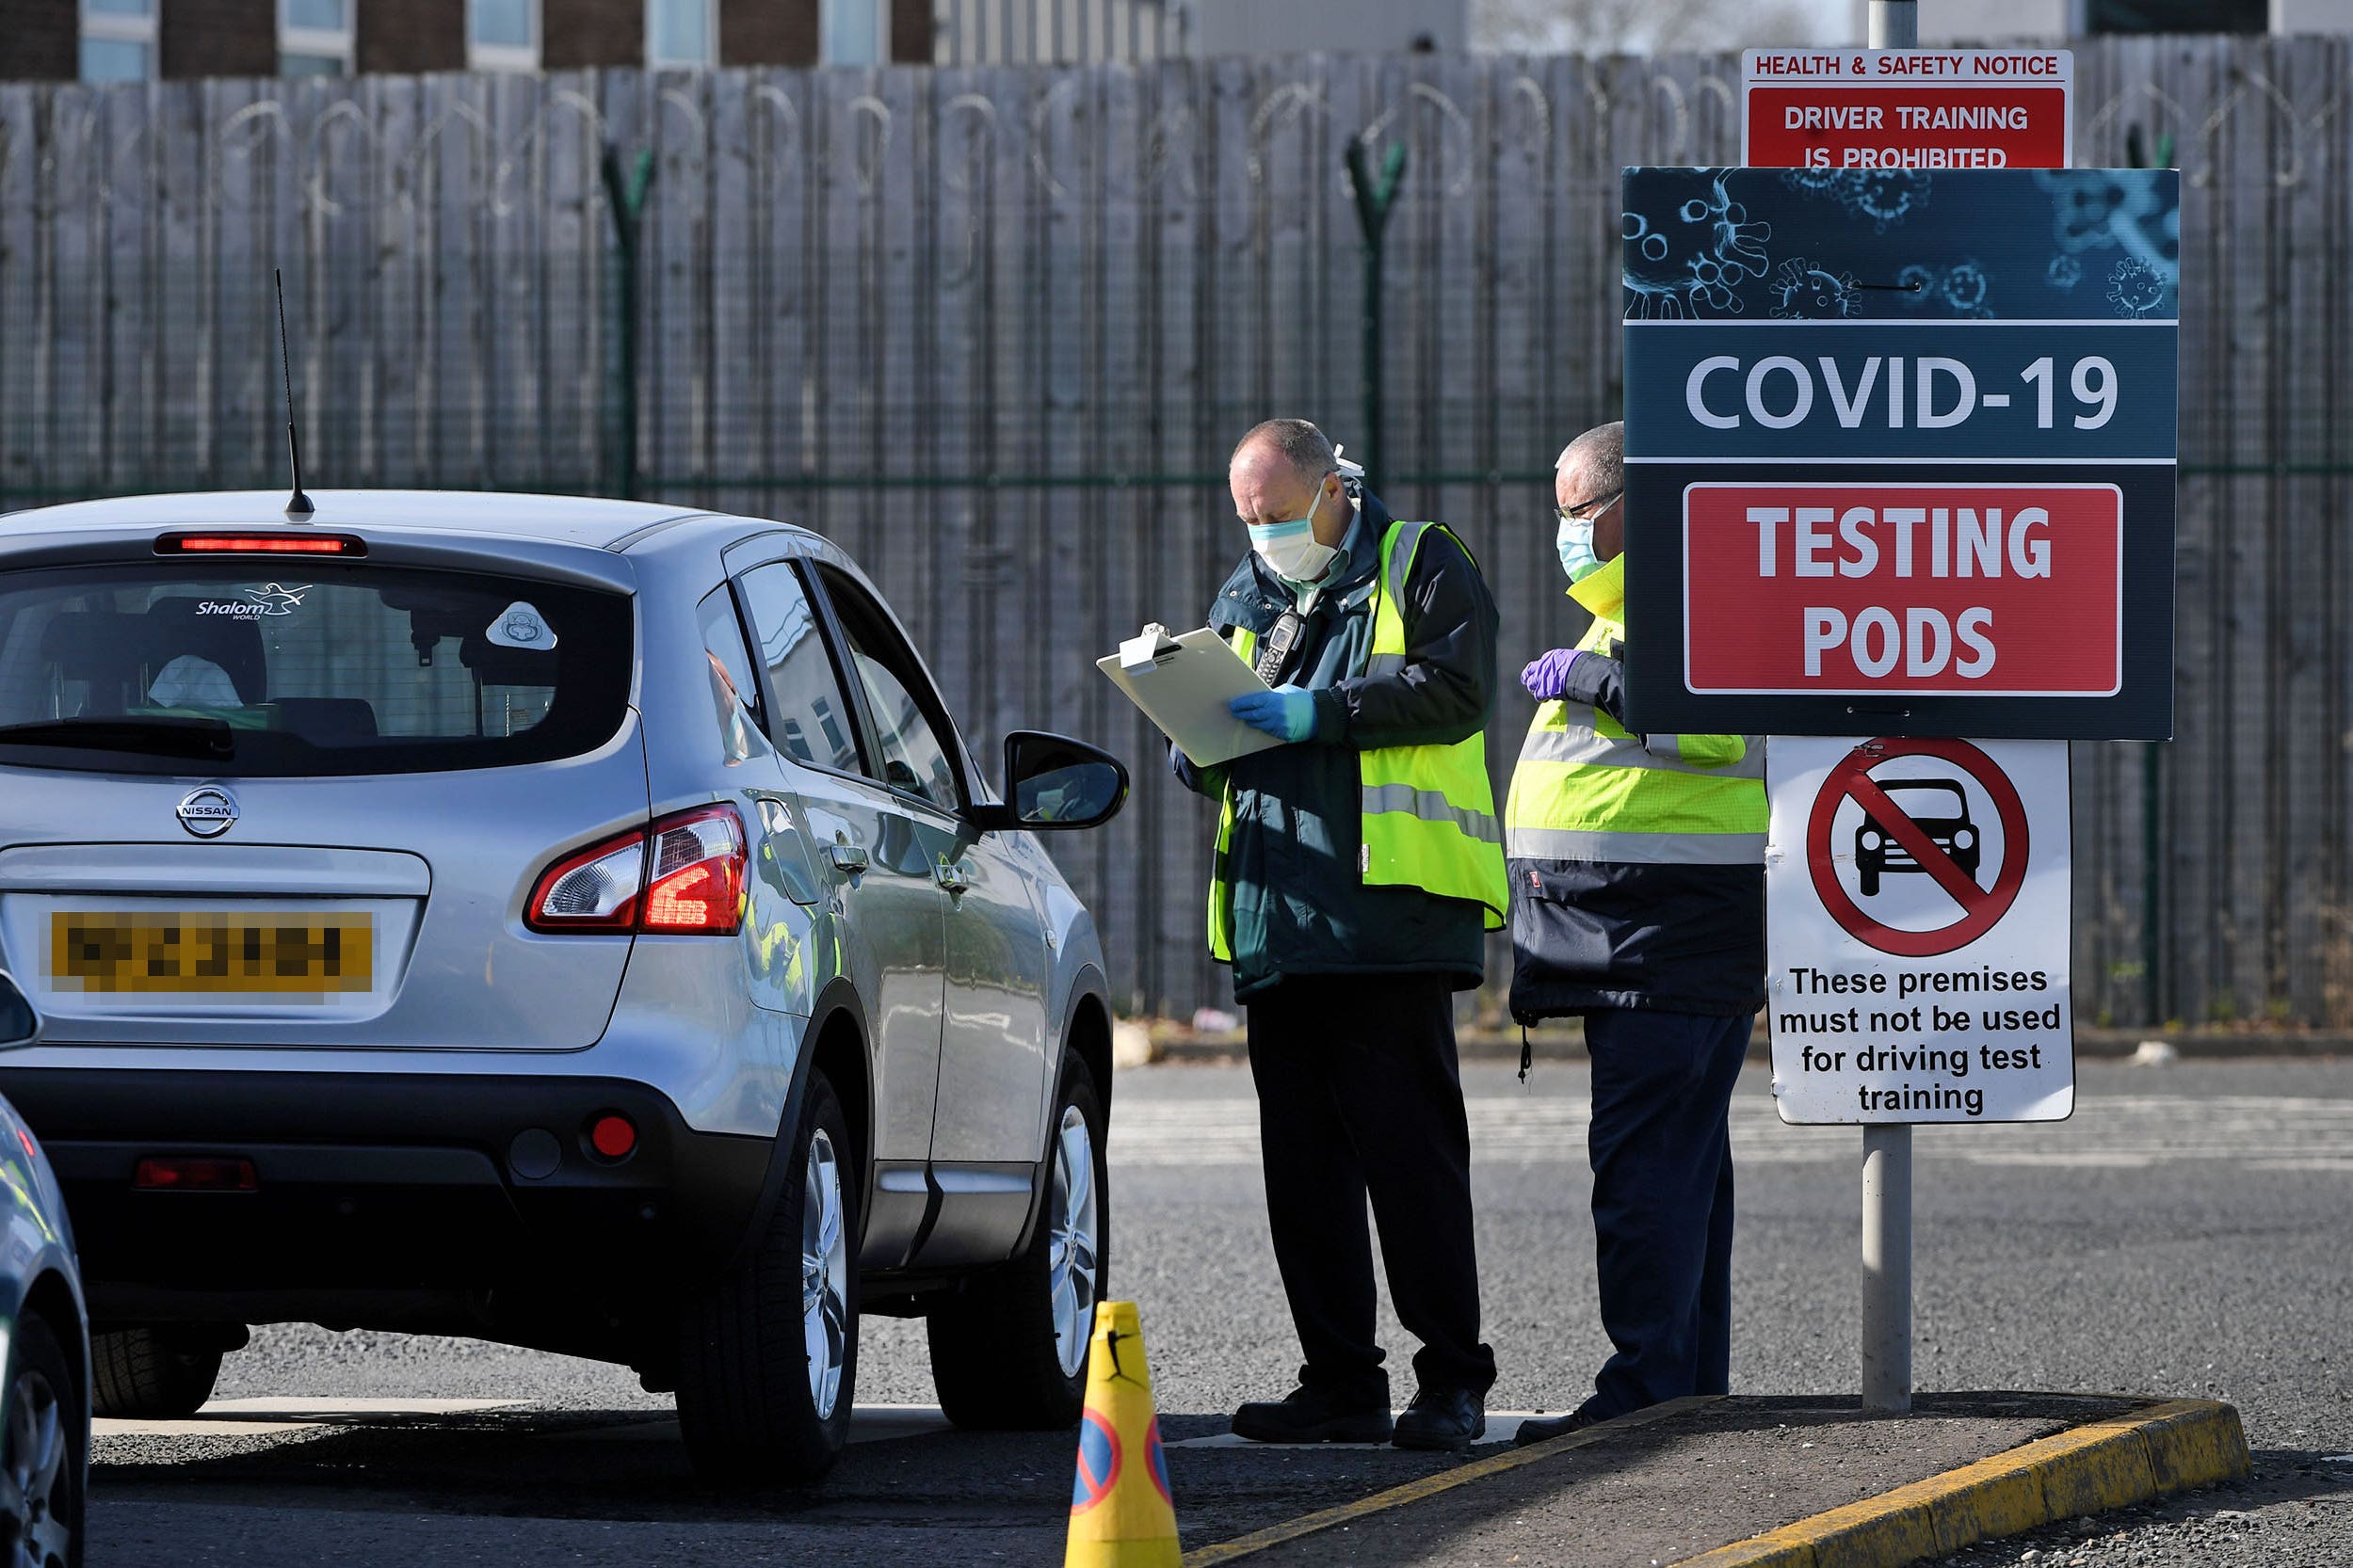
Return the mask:
<path id="1" fill-rule="evenodd" d="M 628 708 L 628 595 L 374 564 L 0 574 L 0 762 L 426 773 L 595 750 Z"/>

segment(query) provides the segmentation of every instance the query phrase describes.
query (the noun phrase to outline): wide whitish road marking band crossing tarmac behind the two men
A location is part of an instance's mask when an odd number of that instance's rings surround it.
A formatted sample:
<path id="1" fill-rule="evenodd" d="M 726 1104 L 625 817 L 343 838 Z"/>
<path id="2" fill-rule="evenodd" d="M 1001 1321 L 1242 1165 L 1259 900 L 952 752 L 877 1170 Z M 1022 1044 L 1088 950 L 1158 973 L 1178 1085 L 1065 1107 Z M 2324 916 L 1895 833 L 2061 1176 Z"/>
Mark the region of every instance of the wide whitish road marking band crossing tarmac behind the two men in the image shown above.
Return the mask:
<path id="1" fill-rule="evenodd" d="M 1466 1105 L 1478 1164 L 1584 1164 L 1591 1107 L 1567 1095 L 1480 1095 Z M 1784 1126 L 1772 1100 L 1732 1105 L 1732 1152 L 1746 1164 L 1840 1164 L 1854 1128 Z M 2057 1124 L 1922 1126 L 1925 1159 L 1977 1166 L 2137 1171 L 2242 1161 L 2257 1171 L 2353 1171 L 2353 1100 L 2264 1095 L 2099 1095 Z M 1111 1117 L 1115 1166 L 1257 1166 L 1259 1105 L 1141 1100 Z"/>

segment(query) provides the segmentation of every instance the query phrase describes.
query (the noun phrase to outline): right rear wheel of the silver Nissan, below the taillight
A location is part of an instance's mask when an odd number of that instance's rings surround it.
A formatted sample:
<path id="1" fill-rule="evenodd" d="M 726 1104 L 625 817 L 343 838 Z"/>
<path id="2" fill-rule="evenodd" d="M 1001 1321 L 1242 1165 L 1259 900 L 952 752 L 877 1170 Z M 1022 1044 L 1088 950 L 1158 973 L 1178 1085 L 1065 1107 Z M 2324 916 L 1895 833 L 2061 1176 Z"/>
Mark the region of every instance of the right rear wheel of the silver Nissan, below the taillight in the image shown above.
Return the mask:
<path id="1" fill-rule="evenodd" d="M 854 1147 L 833 1084 L 812 1072 L 767 1232 L 680 1314 L 678 1425 L 706 1481 L 802 1486 L 849 1441 L 864 1190 Z"/>

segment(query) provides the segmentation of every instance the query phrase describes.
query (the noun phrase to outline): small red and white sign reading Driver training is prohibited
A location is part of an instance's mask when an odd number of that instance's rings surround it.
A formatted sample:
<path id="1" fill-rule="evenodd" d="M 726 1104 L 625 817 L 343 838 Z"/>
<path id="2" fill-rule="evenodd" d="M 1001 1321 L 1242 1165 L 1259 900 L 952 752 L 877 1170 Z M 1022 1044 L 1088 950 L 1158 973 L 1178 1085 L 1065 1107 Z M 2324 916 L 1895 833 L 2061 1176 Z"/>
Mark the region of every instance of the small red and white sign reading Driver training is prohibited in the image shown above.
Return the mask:
<path id="1" fill-rule="evenodd" d="M 1748 49 L 1741 162 L 1769 169 L 2064 169 L 2066 49 Z"/>

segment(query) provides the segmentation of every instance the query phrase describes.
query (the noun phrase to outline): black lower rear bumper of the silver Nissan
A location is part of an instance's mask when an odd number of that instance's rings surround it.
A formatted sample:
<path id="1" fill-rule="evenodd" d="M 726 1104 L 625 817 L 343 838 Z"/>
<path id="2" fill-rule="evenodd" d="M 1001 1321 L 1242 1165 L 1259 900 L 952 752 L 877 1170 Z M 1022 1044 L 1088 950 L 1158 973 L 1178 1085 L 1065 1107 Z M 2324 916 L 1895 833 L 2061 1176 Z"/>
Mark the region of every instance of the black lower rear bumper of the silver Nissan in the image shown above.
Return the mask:
<path id="1" fill-rule="evenodd" d="M 56 1168 L 101 1321 L 614 1324 L 734 1255 L 772 1152 L 595 1077 L 0 1067 L 0 1093 Z M 609 1112 L 638 1128 L 619 1161 L 588 1147 Z M 172 1154 L 249 1159 L 254 1190 L 134 1190 Z"/>

